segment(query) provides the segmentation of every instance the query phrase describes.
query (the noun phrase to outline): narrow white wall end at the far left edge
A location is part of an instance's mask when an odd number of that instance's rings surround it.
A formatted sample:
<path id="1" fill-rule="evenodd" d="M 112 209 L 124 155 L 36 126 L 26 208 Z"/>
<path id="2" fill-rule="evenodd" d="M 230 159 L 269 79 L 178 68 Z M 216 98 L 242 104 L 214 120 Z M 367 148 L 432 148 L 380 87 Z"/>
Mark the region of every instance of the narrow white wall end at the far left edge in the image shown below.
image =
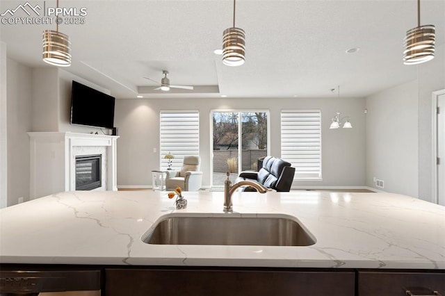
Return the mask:
<path id="1" fill-rule="evenodd" d="M 7 75 L 6 43 L 0 42 L 0 208 L 7 205 L 8 197 L 8 129 L 7 129 Z"/>

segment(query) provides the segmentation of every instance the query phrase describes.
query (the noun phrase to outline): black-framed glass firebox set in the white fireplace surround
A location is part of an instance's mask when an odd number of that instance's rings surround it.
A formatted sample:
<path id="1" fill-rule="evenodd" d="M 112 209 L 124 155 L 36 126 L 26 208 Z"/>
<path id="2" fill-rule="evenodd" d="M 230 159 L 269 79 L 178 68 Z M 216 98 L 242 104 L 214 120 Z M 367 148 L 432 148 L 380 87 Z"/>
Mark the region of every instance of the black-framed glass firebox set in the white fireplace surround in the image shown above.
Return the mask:
<path id="1" fill-rule="evenodd" d="M 76 156 L 76 190 L 92 190 L 102 186 L 102 155 Z"/>

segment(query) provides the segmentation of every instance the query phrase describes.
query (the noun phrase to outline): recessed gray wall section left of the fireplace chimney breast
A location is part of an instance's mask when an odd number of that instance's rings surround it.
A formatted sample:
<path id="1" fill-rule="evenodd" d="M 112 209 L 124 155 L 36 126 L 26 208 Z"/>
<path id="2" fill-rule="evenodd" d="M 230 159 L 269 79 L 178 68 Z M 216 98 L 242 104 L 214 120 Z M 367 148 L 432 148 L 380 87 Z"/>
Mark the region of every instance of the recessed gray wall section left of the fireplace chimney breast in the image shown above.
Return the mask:
<path id="1" fill-rule="evenodd" d="M 29 137 L 32 70 L 8 59 L 8 206 L 29 200 Z"/>

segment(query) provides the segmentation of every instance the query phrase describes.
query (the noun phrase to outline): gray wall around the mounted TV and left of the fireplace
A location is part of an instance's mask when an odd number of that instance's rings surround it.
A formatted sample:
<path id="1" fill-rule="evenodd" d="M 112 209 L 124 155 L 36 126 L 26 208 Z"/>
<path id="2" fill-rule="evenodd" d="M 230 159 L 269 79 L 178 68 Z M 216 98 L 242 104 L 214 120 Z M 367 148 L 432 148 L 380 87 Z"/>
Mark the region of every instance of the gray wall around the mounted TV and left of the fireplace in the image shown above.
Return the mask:
<path id="1" fill-rule="evenodd" d="M 6 59 L 3 45 L 1 48 L 4 59 L 1 59 L 0 69 L 6 72 L 1 89 L 1 128 L 5 129 L 6 136 L 2 131 L 0 150 L 6 150 L 6 161 L 1 161 L 0 186 L 1 192 L 5 192 L 1 195 L 0 208 L 17 204 L 19 197 L 25 202 L 29 200 L 29 131 L 102 133 L 100 129 L 70 125 L 71 81 L 74 79 L 109 93 L 56 67 L 31 68 Z M 6 124 L 3 123 L 5 119 Z"/>

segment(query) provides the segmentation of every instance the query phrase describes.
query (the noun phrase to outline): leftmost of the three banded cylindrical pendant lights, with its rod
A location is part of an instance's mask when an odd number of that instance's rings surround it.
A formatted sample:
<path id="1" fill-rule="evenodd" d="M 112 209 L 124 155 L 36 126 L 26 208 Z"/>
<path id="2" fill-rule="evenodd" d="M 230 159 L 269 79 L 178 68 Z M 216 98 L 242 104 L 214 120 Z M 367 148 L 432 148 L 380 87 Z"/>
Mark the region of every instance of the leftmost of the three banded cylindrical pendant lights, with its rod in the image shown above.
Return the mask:
<path id="1" fill-rule="evenodd" d="M 56 17 L 56 31 L 43 31 L 43 61 L 59 67 L 71 65 L 70 37 L 58 31 L 58 17 Z"/>

